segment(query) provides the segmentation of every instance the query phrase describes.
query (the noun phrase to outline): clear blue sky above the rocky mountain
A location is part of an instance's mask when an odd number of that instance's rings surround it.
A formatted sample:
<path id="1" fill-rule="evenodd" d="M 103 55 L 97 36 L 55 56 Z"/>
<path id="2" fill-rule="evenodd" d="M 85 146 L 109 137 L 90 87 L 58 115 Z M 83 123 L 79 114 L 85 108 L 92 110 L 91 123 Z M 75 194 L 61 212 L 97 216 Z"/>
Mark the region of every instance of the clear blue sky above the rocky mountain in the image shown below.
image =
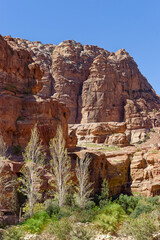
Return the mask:
<path id="1" fill-rule="evenodd" d="M 0 0 L 0 34 L 125 48 L 160 94 L 160 0 Z"/>

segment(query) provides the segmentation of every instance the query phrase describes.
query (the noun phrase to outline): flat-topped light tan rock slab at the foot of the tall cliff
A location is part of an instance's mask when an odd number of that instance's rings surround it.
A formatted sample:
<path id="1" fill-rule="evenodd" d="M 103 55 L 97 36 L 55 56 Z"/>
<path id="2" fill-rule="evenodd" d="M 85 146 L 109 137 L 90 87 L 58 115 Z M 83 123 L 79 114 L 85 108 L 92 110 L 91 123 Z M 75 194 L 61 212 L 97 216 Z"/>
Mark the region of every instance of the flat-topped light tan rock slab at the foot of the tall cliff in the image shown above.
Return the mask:
<path id="1" fill-rule="evenodd" d="M 104 143 L 120 147 L 129 145 L 125 122 L 69 124 L 69 129 L 77 135 L 78 144 Z"/>

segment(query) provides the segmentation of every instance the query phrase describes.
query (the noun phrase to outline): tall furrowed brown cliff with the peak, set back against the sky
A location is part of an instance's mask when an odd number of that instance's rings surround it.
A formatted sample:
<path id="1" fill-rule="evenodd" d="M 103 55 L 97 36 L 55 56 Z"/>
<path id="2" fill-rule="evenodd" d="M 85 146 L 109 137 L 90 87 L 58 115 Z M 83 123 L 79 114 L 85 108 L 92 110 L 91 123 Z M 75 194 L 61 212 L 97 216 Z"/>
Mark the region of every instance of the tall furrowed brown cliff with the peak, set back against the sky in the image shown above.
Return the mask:
<path id="1" fill-rule="evenodd" d="M 39 66 L 36 79 L 43 83 L 37 94 L 65 103 L 71 112 L 69 123 L 128 121 L 132 112 L 125 107 L 127 99 L 134 104 L 143 99 L 148 111 L 160 106 L 158 96 L 124 49 L 110 53 L 71 40 L 58 46 L 10 37 L 5 40 L 30 53 L 29 67 L 36 72 Z"/>

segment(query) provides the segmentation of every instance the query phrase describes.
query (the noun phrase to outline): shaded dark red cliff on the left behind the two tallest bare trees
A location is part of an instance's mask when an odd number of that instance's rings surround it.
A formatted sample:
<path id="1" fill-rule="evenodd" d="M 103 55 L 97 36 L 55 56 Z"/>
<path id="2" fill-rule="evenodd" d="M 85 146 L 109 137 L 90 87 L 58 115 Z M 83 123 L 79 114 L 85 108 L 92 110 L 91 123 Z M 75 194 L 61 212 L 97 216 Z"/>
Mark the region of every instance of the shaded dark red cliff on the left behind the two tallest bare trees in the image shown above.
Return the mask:
<path id="1" fill-rule="evenodd" d="M 7 41 L 6 41 L 7 40 Z M 44 69 L 14 39 L 0 36 L 0 132 L 8 146 L 25 147 L 38 123 L 44 144 L 55 136 L 57 125 L 68 138 L 68 108 L 53 98 L 41 98 Z"/>

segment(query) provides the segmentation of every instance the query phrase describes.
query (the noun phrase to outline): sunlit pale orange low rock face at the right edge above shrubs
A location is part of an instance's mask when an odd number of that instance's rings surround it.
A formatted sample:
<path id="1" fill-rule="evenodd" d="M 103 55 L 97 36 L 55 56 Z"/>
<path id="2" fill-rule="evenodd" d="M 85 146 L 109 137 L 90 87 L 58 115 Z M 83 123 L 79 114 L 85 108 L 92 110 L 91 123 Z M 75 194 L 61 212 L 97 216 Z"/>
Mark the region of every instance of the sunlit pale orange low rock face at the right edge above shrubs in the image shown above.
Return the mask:
<path id="1" fill-rule="evenodd" d="M 160 195 L 160 151 L 137 152 L 130 166 L 131 191 L 146 196 Z"/>

